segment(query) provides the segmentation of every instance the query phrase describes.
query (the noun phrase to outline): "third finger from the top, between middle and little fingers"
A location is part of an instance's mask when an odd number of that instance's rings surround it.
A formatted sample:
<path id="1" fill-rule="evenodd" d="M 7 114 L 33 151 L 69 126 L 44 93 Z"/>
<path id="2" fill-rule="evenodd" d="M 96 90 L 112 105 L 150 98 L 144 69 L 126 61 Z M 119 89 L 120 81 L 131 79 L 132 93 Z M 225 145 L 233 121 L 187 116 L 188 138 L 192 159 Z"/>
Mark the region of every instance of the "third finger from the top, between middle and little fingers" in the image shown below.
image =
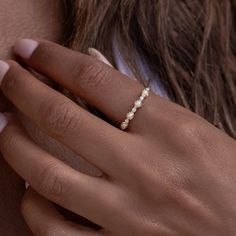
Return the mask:
<path id="1" fill-rule="evenodd" d="M 116 187 L 54 158 L 32 142 L 12 118 L 0 134 L 0 150 L 8 164 L 42 196 L 103 227 L 112 223 Z"/>

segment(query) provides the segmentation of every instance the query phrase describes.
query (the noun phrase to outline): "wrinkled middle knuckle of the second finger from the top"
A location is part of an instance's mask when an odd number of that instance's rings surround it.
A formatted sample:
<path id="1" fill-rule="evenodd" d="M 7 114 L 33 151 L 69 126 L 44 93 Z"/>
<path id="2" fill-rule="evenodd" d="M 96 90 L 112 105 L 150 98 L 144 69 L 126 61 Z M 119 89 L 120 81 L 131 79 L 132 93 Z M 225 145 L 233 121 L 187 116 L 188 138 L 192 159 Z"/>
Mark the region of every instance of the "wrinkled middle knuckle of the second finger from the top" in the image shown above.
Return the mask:
<path id="1" fill-rule="evenodd" d="M 42 105 L 43 128 L 54 136 L 63 136 L 71 130 L 79 129 L 81 116 L 78 116 L 70 102 L 47 102 Z"/>

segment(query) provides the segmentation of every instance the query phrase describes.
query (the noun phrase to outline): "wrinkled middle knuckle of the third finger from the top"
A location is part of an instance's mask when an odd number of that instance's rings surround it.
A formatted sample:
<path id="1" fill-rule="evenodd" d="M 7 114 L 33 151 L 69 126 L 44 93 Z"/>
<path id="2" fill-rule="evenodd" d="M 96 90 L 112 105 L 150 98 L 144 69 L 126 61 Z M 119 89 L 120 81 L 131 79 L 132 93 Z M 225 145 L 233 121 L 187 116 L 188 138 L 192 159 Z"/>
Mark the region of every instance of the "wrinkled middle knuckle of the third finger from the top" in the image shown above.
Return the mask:
<path id="1" fill-rule="evenodd" d="M 47 163 L 36 180 L 39 191 L 49 198 L 60 199 L 65 193 L 65 179 L 63 171 L 55 163 Z"/>

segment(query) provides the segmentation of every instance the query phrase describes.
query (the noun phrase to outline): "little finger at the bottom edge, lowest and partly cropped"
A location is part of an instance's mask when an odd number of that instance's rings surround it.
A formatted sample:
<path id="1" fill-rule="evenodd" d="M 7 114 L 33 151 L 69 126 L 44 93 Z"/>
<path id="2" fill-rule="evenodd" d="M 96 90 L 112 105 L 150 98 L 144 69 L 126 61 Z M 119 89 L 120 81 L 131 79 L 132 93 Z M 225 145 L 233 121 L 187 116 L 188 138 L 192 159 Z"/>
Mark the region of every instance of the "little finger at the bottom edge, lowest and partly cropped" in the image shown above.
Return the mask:
<path id="1" fill-rule="evenodd" d="M 36 236 L 102 236 L 102 232 L 67 221 L 49 202 L 33 189 L 29 189 L 22 201 L 22 215 Z"/>

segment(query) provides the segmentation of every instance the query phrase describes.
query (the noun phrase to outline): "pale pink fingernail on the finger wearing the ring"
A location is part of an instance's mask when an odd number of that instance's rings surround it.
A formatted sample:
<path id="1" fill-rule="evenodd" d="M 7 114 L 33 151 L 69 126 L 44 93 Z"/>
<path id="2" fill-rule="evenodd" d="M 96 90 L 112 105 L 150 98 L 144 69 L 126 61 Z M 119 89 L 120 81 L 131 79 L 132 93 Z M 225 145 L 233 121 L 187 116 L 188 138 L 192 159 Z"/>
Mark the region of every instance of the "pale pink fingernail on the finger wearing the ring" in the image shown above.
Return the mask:
<path id="1" fill-rule="evenodd" d="M 32 39 L 18 39 L 14 44 L 14 52 L 22 58 L 29 59 L 39 43 Z"/>

